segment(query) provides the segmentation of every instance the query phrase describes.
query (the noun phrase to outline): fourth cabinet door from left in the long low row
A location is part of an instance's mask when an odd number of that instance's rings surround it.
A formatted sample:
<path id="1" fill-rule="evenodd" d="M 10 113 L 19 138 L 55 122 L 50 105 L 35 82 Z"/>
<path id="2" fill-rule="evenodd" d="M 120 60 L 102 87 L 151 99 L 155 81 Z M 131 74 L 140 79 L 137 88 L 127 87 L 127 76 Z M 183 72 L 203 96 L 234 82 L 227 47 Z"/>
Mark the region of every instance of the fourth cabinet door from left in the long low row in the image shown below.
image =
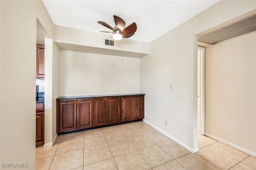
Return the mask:
<path id="1" fill-rule="evenodd" d="M 120 122 L 120 97 L 108 99 L 108 123 Z"/>

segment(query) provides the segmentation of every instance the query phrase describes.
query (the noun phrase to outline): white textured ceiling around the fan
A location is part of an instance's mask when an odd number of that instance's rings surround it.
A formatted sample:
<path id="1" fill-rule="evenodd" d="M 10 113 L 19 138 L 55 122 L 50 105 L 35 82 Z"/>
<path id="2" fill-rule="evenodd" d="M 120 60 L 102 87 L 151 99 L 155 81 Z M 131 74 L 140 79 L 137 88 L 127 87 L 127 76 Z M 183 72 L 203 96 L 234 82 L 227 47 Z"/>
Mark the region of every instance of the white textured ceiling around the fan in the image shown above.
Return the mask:
<path id="1" fill-rule="evenodd" d="M 114 27 L 113 15 L 116 15 L 126 22 L 126 26 L 135 22 L 137 31 L 129 39 L 143 42 L 152 42 L 218 1 L 42 0 L 54 25 L 100 33 L 111 30 L 97 22 Z"/>

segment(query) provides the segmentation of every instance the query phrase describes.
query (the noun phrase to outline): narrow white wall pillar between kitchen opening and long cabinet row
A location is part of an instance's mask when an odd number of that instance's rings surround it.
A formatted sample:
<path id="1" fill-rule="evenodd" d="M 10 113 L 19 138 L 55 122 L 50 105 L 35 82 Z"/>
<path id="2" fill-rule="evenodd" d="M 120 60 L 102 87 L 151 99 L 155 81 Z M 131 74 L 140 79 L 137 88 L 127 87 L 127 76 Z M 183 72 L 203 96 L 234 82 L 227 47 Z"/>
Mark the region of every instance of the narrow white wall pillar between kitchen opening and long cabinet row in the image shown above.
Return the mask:
<path id="1" fill-rule="evenodd" d="M 59 49 L 52 39 L 45 39 L 44 147 L 56 138 L 56 98 L 59 97 Z"/>

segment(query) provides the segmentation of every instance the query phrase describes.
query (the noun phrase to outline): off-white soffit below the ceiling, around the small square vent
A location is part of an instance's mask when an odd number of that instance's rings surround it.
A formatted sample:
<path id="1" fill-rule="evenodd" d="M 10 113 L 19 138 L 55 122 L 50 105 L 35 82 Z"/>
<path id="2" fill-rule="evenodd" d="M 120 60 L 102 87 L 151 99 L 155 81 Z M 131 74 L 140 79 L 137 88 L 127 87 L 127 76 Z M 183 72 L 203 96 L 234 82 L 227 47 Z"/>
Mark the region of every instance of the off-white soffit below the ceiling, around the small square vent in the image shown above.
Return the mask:
<path id="1" fill-rule="evenodd" d="M 114 50 L 113 54 L 115 54 L 115 50 L 122 51 L 122 53 L 126 53 L 127 51 L 129 51 L 129 52 L 133 52 L 134 54 L 136 53 L 148 54 L 150 51 L 148 42 L 131 40 L 129 38 L 123 38 L 120 41 L 115 41 L 115 47 L 107 46 L 105 45 L 105 39 L 112 40 L 111 34 L 102 34 L 100 32 L 99 33 L 88 32 L 84 30 L 77 30 L 74 28 L 67 28 L 63 26 L 55 26 L 55 32 L 56 32 L 56 35 L 55 35 L 56 43 L 72 44 L 71 47 L 68 47 L 68 48 L 72 48 L 75 45 L 76 47 L 74 47 L 74 49 L 79 50 L 82 47 L 83 49 L 87 49 L 88 51 L 90 51 L 90 53 L 101 53 L 101 54 L 106 54 L 107 52 L 112 53 L 113 52 L 112 49 Z M 106 50 L 106 49 L 111 49 L 111 50 Z M 70 49 L 64 49 L 64 50 L 70 50 Z M 87 51 L 82 50 L 80 52 L 87 52 Z M 108 54 L 108 55 L 112 55 L 112 54 Z M 127 55 L 122 55 L 122 56 L 127 57 Z M 130 56 L 130 57 L 135 57 L 135 56 Z"/>

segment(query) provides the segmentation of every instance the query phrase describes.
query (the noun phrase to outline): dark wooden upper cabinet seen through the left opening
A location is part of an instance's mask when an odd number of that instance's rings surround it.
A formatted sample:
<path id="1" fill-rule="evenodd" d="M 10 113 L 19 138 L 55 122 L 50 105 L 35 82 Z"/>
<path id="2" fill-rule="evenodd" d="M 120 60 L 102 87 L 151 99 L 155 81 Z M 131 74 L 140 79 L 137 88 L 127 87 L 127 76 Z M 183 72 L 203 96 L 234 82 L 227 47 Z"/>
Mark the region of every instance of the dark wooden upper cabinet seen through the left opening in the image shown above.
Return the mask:
<path id="1" fill-rule="evenodd" d="M 44 79 L 44 45 L 36 44 L 36 78 Z"/>

